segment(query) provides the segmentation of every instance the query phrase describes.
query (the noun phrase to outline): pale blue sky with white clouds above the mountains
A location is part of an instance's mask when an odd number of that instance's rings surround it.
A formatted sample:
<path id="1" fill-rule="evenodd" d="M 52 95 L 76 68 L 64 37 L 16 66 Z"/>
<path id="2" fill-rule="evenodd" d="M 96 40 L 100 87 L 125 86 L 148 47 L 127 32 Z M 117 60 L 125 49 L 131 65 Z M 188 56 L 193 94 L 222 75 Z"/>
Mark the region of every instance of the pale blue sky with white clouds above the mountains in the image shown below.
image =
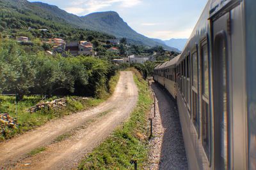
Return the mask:
<path id="1" fill-rule="evenodd" d="M 32 2 L 33 0 L 29 0 Z M 149 38 L 189 38 L 208 0 L 37 0 L 78 16 L 116 11 Z"/>

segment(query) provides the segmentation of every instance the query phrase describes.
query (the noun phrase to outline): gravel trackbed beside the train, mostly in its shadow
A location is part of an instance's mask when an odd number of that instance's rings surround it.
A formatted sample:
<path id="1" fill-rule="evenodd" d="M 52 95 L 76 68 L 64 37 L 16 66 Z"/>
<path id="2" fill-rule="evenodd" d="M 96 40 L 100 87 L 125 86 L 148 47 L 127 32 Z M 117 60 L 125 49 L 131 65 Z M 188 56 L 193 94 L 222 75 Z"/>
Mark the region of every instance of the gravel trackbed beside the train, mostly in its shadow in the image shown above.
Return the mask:
<path id="1" fill-rule="evenodd" d="M 154 138 L 150 140 L 148 169 L 188 169 L 175 99 L 157 83 L 152 83 L 152 89 L 157 104 L 156 117 L 151 114 Z"/>

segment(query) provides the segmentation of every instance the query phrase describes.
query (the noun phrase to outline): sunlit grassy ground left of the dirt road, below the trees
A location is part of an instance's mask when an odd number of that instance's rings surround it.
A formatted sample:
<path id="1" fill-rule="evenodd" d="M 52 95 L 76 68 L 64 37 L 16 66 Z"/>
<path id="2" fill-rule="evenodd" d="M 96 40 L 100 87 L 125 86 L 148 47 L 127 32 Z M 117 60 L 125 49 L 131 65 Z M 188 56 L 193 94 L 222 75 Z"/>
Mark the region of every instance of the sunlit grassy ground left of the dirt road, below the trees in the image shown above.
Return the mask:
<path id="1" fill-rule="evenodd" d="M 119 75 L 120 74 L 117 73 L 116 76 L 113 76 L 113 78 L 111 78 L 109 81 L 109 96 L 111 96 L 115 90 Z M 35 106 L 35 104 L 39 103 L 42 100 L 42 96 L 24 96 L 24 99 L 17 105 L 15 104 L 14 96 L 0 96 L 0 113 L 9 113 L 11 117 L 17 120 L 18 124 L 17 127 L 11 128 L 1 124 L 0 122 L 0 141 L 10 139 L 16 134 L 20 134 L 43 125 L 53 118 L 60 118 L 64 115 L 70 115 L 77 111 L 88 110 L 89 108 L 97 106 L 107 99 L 83 99 L 83 97 L 65 98 L 67 99 L 66 107 L 56 108 L 53 110 L 44 109 L 36 111 L 35 113 L 29 113 L 28 109 L 31 108 L 31 106 Z M 47 101 L 52 101 L 54 99 L 57 99 L 57 97 L 52 97 L 51 99 L 47 99 Z"/>

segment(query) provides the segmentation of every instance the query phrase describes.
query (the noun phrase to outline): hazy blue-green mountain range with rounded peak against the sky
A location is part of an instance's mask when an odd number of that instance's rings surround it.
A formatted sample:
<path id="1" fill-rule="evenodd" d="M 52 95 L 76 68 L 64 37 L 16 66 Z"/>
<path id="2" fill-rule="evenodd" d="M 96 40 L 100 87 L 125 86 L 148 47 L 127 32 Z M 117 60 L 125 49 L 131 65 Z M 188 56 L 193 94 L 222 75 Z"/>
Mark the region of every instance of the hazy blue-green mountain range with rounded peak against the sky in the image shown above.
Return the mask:
<path id="1" fill-rule="evenodd" d="M 49 5 L 46 3 L 33 2 L 29 3 L 26 0 L 0 0 L 0 7 L 13 8 L 15 11 L 29 11 L 34 15 L 58 22 L 61 24 L 69 24 L 80 29 L 90 29 L 93 31 L 105 32 L 116 36 L 116 38 L 127 38 L 129 43 L 145 46 L 163 46 L 167 50 L 180 52 L 177 48 L 166 45 L 162 41 L 155 41 L 147 38 L 142 34 L 134 31 L 115 11 L 97 12 L 89 15 L 78 17 L 77 15 L 67 13 L 61 10 L 58 6 Z M 19 9 L 19 10 L 17 10 Z"/>

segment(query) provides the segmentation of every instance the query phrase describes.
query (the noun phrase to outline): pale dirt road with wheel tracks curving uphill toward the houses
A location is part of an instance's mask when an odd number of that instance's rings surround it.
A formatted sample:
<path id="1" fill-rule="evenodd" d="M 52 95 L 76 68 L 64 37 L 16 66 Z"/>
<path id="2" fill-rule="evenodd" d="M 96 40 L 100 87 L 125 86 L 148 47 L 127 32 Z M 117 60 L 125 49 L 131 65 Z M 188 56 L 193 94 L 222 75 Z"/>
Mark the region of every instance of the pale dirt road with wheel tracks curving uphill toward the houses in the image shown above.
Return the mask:
<path id="1" fill-rule="evenodd" d="M 132 72 L 121 72 L 116 90 L 108 101 L 92 110 L 51 121 L 6 143 L 0 143 L 0 167 L 4 169 L 71 169 L 81 158 L 129 117 L 138 100 Z M 91 121 L 90 125 L 89 120 Z M 89 121 L 89 122 L 88 122 Z M 54 142 L 72 131 L 70 138 Z M 35 156 L 27 153 L 40 146 L 46 150 Z"/>

